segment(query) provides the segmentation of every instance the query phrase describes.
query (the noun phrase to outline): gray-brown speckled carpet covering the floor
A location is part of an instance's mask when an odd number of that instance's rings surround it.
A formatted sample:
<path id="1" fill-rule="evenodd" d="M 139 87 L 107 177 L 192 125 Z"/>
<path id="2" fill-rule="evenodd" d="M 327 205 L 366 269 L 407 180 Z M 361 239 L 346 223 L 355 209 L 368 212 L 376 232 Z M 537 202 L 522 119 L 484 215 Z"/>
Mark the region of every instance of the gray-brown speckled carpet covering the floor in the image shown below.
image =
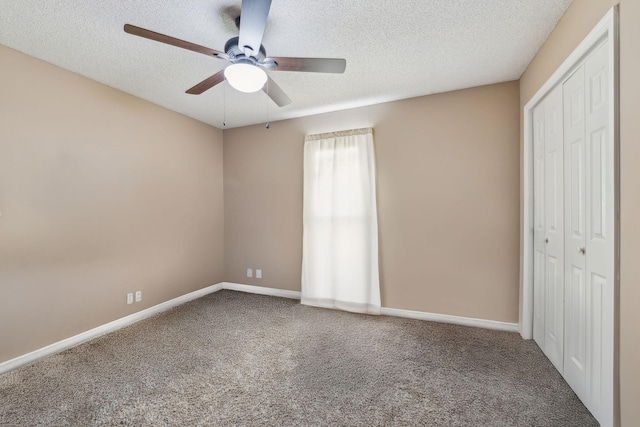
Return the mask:
<path id="1" fill-rule="evenodd" d="M 591 426 L 518 334 L 220 291 L 0 375 L 2 426 Z"/>

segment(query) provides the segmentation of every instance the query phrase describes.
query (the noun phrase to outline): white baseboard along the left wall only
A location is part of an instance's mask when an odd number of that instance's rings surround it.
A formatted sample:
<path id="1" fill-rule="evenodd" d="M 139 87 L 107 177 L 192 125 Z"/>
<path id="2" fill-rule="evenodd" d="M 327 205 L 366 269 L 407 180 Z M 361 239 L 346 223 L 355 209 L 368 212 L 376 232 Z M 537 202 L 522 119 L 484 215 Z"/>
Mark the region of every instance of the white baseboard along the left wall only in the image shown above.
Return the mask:
<path id="1" fill-rule="evenodd" d="M 206 288 L 199 289 L 194 292 L 190 292 L 186 295 L 179 296 L 177 298 L 163 302 L 161 304 L 154 305 L 153 307 L 149 307 L 147 309 L 138 311 L 137 313 L 130 314 L 129 316 L 122 317 L 118 320 L 114 320 L 113 322 L 109 322 L 102 326 L 98 326 L 97 328 L 93 328 L 86 332 L 82 332 L 78 335 L 65 338 L 62 341 L 58 341 L 46 347 L 39 348 L 38 350 L 34 350 L 31 353 L 23 354 L 22 356 L 18 356 L 14 359 L 7 360 L 6 362 L 0 363 L 0 374 L 8 372 L 12 369 L 18 368 L 20 366 L 35 362 L 38 359 L 42 359 L 47 356 L 51 356 L 53 354 L 59 353 L 71 347 L 75 347 L 79 344 L 90 341 L 94 338 L 98 338 L 102 335 L 108 334 L 118 329 L 124 328 L 125 326 L 129 326 L 133 323 L 139 322 L 155 314 L 177 307 L 179 305 L 182 305 L 196 298 L 200 298 L 205 295 L 211 294 L 213 292 L 217 292 L 220 289 L 222 289 L 222 283 L 218 283 L 213 286 L 208 286 Z"/>

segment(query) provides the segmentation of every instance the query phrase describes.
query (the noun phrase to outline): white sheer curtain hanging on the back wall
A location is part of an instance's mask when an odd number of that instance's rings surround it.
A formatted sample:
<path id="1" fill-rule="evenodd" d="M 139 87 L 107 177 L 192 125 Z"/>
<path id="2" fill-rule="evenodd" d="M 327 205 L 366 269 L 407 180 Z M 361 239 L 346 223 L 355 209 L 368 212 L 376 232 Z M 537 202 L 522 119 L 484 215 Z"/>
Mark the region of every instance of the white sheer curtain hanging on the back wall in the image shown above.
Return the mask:
<path id="1" fill-rule="evenodd" d="M 380 313 L 373 130 L 304 143 L 302 304 Z"/>

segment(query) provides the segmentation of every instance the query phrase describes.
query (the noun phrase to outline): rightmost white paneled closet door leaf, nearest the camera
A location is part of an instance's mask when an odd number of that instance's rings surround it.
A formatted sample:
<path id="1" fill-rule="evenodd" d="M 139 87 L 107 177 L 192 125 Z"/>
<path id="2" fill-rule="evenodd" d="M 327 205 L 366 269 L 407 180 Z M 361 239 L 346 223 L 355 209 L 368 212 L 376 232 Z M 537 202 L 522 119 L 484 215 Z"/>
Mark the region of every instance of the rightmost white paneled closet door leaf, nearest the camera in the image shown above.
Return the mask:
<path id="1" fill-rule="evenodd" d="M 584 65 L 586 169 L 587 407 L 604 425 L 613 413 L 614 147 L 608 46 Z M 612 119 L 611 119 L 612 121 Z"/>

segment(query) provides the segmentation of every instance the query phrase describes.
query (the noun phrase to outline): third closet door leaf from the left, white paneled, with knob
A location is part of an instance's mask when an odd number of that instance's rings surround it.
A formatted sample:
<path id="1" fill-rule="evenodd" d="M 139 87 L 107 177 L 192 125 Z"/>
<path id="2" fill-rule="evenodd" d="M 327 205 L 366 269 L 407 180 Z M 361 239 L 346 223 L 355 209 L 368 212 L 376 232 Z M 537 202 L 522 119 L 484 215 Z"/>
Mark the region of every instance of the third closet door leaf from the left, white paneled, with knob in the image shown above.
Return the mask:
<path id="1" fill-rule="evenodd" d="M 564 377 L 585 402 L 587 295 L 585 263 L 584 66 L 563 85 L 565 161 L 565 349 Z"/>

